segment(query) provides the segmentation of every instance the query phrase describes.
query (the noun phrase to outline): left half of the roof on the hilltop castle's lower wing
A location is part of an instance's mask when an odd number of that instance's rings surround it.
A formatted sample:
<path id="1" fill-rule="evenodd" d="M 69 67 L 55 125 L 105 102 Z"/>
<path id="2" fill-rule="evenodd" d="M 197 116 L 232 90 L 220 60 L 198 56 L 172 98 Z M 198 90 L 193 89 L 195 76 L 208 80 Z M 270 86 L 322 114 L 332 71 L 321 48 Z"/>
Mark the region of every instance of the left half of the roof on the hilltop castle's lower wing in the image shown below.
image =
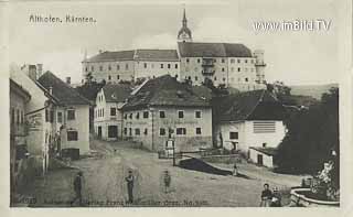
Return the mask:
<path id="1" fill-rule="evenodd" d="M 84 62 L 132 61 L 135 51 L 103 52 Z"/>

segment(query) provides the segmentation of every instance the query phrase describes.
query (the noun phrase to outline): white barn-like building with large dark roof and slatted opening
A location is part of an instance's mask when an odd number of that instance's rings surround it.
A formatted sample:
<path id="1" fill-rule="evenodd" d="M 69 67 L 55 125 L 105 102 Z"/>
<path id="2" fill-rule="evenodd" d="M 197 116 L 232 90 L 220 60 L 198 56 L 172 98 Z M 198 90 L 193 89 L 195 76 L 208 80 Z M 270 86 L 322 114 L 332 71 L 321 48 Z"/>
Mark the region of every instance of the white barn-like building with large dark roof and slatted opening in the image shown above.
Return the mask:
<path id="1" fill-rule="evenodd" d="M 247 153 L 253 162 L 265 165 L 266 150 L 276 149 L 286 135 L 285 108 L 267 90 L 218 98 L 213 109 L 218 147 Z M 261 151 L 264 156 L 254 153 Z"/>

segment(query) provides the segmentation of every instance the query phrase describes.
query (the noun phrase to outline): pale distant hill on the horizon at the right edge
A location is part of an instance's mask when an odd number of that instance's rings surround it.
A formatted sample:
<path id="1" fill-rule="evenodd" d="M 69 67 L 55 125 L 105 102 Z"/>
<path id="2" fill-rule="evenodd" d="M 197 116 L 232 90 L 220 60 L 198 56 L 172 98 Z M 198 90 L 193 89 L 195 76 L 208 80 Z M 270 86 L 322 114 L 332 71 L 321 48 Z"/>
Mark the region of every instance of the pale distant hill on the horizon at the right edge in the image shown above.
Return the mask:
<path id="1" fill-rule="evenodd" d="M 338 84 L 328 84 L 328 85 L 298 85 L 290 86 L 291 95 L 300 96 L 311 96 L 315 99 L 321 99 L 323 93 L 328 93 L 331 87 L 339 87 Z"/>

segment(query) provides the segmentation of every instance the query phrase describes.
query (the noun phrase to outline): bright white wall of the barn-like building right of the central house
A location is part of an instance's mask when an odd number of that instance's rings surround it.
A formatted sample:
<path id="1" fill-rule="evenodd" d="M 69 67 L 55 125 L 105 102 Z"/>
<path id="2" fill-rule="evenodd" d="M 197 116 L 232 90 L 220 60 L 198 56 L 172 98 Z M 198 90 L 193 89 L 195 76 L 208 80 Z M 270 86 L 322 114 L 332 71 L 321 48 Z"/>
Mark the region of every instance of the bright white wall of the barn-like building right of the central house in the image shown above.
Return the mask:
<path id="1" fill-rule="evenodd" d="M 223 145 L 233 149 L 232 142 L 237 142 L 237 149 L 248 152 L 250 147 L 277 148 L 286 135 L 286 127 L 282 121 L 274 121 L 276 131 L 270 133 L 255 133 L 254 121 L 223 122 L 215 128 L 217 144 L 220 144 L 220 132 L 223 138 Z M 229 132 L 238 132 L 238 139 L 231 139 Z"/>

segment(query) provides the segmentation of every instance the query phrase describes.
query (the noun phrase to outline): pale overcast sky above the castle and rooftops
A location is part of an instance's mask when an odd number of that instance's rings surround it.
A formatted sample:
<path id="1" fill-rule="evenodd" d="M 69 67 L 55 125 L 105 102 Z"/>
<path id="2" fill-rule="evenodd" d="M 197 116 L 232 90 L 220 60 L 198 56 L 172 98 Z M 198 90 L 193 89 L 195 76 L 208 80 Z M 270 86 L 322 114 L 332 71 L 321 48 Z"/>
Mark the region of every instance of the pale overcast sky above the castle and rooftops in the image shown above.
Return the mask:
<path id="1" fill-rule="evenodd" d="M 62 79 L 82 79 L 85 51 L 176 48 L 183 6 L 194 42 L 243 43 L 265 51 L 266 78 L 288 85 L 338 83 L 338 4 L 333 0 L 105 1 L 11 3 L 9 58 L 43 63 Z M 31 14 L 93 17 L 96 23 L 31 23 Z M 331 21 L 328 31 L 255 31 L 254 22 Z"/>

